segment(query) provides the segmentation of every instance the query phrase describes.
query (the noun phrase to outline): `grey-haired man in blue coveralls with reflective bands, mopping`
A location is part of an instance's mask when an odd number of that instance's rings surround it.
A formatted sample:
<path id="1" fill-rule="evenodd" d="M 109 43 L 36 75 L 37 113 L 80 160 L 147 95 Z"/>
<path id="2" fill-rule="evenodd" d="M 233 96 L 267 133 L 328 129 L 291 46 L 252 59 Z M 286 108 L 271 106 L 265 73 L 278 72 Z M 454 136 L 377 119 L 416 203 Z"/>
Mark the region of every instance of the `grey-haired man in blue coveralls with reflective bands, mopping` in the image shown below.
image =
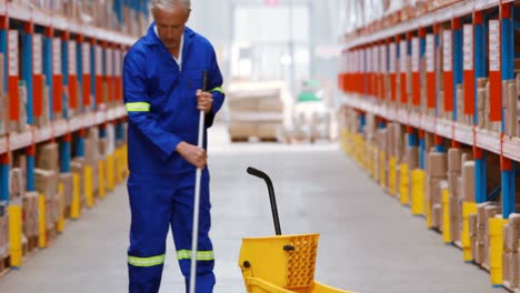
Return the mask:
<path id="1" fill-rule="evenodd" d="M 211 43 L 184 27 L 190 7 L 190 0 L 151 0 L 154 22 L 124 58 L 131 209 L 130 292 L 159 291 L 170 225 L 188 292 L 197 168 L 203 169 L 197 292 L 212 292 L 216 282 L 213 249 L 208 235 L 207 142 L 201 149 L 197 140 L 200 111 L 206 113 L 206 132 L 224 95 Z M 204 70 L 208 72 L 207 92 L 201 91 Z"/>

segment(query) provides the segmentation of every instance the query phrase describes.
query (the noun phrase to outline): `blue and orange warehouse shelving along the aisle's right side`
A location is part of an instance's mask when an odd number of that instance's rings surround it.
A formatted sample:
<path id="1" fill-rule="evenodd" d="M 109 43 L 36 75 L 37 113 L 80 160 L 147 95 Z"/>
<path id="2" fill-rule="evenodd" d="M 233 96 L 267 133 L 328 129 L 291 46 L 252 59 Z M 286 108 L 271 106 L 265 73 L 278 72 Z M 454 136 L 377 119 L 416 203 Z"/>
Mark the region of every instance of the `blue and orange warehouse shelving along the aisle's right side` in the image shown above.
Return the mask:
<path id="1" fill-rule="evenodd" d="M 343 145 L 348 153 L 360 154 L 354 137 L 363 134 L 366 117 L 370 114 L 379 129 L 384 129 L 388 122 L 407 128 L 408 145 L 419 150 L 418 170 L 426 170 L 428 135 L 433 137 L 437 152 L 447 152 L 447 145 L 471 148 L 476 165 L 472 204 L 487 202 L 501 193 L 501 218 L 506 220 L 517 212 L 516 164 L 520 162 L 520 135 L 510 130 L 511 120 L 508 119 L 513 119 L 518 129 L 520 113 L 508 118 L 511 105 L 502 100 L 509 94 L 508 82 L 516 80 L 514 61 L 520 52 L 516 50 L 514 32 L 519 28 L 514 18 L 520 16 L 520 2 L 424 2 L 424 6 L 416 10 L 403 8 L 400 16 L 387 17 L 346 36 L 342 70 L 338 77 L 339 88 L 344 93 L 341 102 L 346 109 L 354 110 L 349 113 L 358 117 L 360 129 L 353 133 L 351 129 L 346 130 Z M 444 6 L 424 9 L 430 2 Z M 487 107 L 483 107 L 487 101 L 479 101 L 479 92 L 484 91 L 482 79 L 489 81 Z M 518 102 L 517 97 L 514 102 Z M 482 112 L 482 108 L 488 111 Z M 359 149 L 364 142 L 358 143 L 361 143 Z M 488 155 L 500 156 L 501 183 L 491 193 L 487 191 Z M 367 159 L 360 159 L 361 164 L 363 160 Z M 397 162 L 382 154 L 381 162 L 386 160 L 392 178 Z M 404 172 L 412 172 L 407 168 L 404 165 Z M 414 190 L 416 183 L 407 184 L 407 189 Z M 384 188 L 391 194 L 397 193 L 392 191 L 392 183 Z M 418 190 L 424 192 L 422 188 Z M 408 200 L 401 198 L 401 202 L 408 203 Z M 470 210 L 474 209 L 476 213 L 477 208 L 472 206 Z M 497 222 L 497 225 L 501 229 L 503 223 Z M 457 245 L 467 247 L 469 244 L 463 242 Z M 493 246 L 491 254 L 501 259 L 502 249 Z M 464 260 L 471 260 L 466 250 Z M 490 270 L 493 285 L 502 284 L 501 262 L 500 273 L 493 271 L 496 267 Z"/>

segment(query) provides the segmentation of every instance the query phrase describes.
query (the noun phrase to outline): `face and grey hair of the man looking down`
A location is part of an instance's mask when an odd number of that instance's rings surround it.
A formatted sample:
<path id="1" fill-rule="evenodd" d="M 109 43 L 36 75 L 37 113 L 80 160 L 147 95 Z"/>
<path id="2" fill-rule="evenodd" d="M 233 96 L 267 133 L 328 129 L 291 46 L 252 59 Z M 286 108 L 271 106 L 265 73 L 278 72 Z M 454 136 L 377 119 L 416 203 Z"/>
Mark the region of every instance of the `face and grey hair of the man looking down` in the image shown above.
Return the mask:
<path id="1" fill-rule="evenodd" d="M 189 17 L 190 12 L 182 4 L 176 4 L 168 10 L 157 9 L 153 11 L 159 39 L 168 49 L 176 49 L 180 46 L 184 24 Z"/>

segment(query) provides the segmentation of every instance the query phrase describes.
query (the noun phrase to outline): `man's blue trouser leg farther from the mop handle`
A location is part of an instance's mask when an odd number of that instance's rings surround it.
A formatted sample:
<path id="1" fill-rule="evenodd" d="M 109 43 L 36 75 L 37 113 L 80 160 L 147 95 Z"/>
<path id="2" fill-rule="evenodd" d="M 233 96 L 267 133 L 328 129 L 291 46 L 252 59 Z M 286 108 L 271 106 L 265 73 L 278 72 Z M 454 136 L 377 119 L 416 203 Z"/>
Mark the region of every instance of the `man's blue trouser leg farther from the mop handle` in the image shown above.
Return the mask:
<path id="1" fill-rule="evenodd" d="M 153 179 L 131 173 L 128 193 L 132 214 L 128 250 L 129 292 L 157 293 L 166 257 L 173 191 Z"/>

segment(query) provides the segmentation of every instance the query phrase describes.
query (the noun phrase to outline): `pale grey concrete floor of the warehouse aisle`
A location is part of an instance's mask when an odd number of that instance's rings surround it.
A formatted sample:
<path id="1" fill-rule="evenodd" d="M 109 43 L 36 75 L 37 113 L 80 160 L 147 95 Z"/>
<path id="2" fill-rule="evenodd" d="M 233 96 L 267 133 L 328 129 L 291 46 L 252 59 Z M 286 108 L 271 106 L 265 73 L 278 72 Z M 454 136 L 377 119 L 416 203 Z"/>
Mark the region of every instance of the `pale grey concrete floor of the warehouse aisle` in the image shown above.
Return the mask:
<path id="1" fill-rule="evenodd" d="M 266 184 L 249 165 L 273 179 L 282 233 L 321 234 L 316 279 L 357 292 L 506 292 L 462 253 L 426 229 L 424 220 L 384 194 L 337 144 L 227 143 L 210 131 L 214 292 L 246 292 L 238 255 L 242 236 L 273 235 Z M 126 186 L 68 223 L 21 271 L 0 279 L 2 293 L 127 291 L 129 208 Z M 161 292 L 183 292 L 171 238 Z"/>

